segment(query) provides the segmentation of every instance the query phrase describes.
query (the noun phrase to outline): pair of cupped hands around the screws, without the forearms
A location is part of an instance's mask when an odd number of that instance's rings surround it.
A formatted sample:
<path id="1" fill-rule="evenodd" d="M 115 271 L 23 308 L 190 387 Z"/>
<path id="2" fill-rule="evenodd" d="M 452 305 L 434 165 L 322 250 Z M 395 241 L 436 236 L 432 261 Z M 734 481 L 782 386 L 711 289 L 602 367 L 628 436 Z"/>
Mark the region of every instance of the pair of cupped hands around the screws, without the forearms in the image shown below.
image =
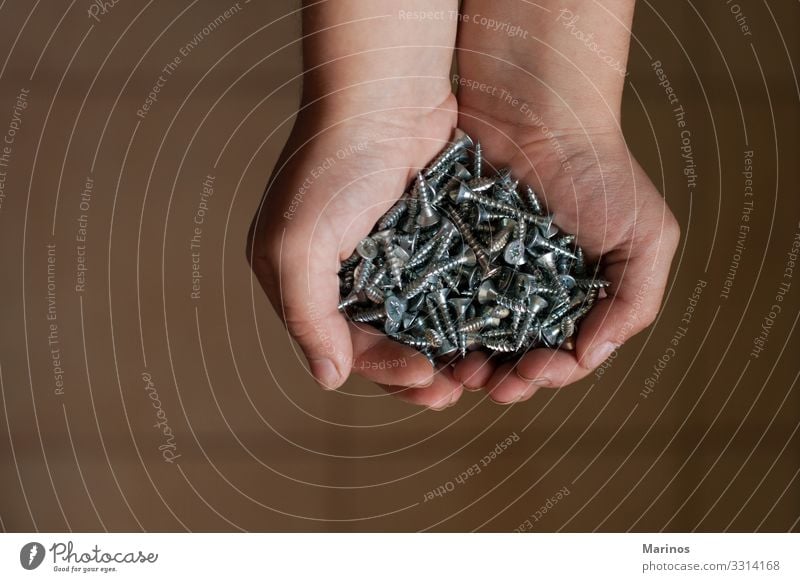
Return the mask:
<path id="1" fill-rule="evenodd" d="M 513 75 L 502 75 L 494 74 L 492 86 L 513 90 Z M 521 402 L 541 387 L 587 376 L 657 315 L 679 230 L 629 152 L 618 115 L 608 115 L 619 102 L 598 100 L 604 111 L 597 119 L 610 121 L 588 127 L 550 110 L 530 115 L 535 101 L 509 104 L 493 92 L 461 88 L 456 98 L 446 76 L 426 80 L 425 91 L 397 80 L 336 91 L 306 87 L 253 220 L 248 256 L 324 388 L 336 389 L 357 373 L 434 410 L 455 404 L 464 390 L 486 390 L 497 403 Z M 509 167 L 521 184 L 533 186 L 555 224 L 577 236 L 587 261 L 599 261 L 611 282 L 580 324 L 574 351 L 536 348 L 501 364 L 476 351 L 434 369 L 414 349 L 338 311 L 340 261 L 455 127 L 481 143 L 487 173 Z"/>

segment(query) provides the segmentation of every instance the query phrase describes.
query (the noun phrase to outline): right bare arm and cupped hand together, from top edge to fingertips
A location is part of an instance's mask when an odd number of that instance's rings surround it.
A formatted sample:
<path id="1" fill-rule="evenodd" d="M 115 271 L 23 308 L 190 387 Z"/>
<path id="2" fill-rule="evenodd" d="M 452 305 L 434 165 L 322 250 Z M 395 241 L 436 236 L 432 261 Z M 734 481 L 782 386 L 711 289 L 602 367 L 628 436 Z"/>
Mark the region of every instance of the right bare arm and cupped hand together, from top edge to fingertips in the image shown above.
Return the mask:
<path id="1" fill-rule="evenodd" d="M 490 13 L 465 1 L 459 74 L 473 83 L 458 94 L 459 126 L 481 142 L 490 164 L 509 166 L 541 193 L 557 226 L 576 235 L 587 260 L 599 260 L 600 275 L 612 284 L 580 323 L 574 352 L 534 349 L 499 366 L 474 352 L 456 365 L 455 377 L 467 389 L 486 388 L 500 403 L 580 380 L 652 323 L 679 239 L 675 218 L 622 135 L 624 77 L 576 44 L 560 22 L 561 3 L 540 4 L 551 6 L 550 13 L 522 3 Z M 567 24 L 596 33 L 595 45 L 624 68 L 633 2 L 569 4 L 574 13 Z M 533 39 L 524 44 L 487 30 L 469 18 L 473 5 L 497 22 L 529 23 Z"/>

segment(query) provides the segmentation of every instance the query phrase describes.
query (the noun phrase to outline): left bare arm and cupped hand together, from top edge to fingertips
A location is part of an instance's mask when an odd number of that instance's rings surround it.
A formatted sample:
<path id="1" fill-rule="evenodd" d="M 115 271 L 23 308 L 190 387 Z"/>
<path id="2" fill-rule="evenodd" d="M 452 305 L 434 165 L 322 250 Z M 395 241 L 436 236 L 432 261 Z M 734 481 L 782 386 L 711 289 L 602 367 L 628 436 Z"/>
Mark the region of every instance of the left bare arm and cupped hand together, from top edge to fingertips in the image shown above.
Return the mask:
<path id="1" fill-rule="evenodd" d="M 399 398 L 441 409 L 452 370 L 339 313 L 340 262 L 449 140 L 457 0 L 303 3 L 303 98 L 256 212 L 248 256 L 313 377 L 338 388 L 351 371 Z M 381 365 L 385 364 L 385 365 Z"/>

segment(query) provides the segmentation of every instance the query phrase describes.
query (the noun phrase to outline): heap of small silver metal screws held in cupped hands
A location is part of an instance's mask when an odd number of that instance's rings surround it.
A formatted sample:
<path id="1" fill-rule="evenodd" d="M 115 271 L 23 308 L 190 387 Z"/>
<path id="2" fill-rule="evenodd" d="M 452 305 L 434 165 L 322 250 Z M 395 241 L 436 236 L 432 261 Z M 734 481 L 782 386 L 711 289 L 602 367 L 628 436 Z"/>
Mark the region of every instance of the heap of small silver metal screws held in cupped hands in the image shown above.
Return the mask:
<path id="1" fill-rule="evenodd" d="M 339 271 L 339 309 L 433 360 L 483 349 L 574 349 L 609 282 L 587 269 L 530 186 L 483 175 L 479 143 L 454 140 Z"/>

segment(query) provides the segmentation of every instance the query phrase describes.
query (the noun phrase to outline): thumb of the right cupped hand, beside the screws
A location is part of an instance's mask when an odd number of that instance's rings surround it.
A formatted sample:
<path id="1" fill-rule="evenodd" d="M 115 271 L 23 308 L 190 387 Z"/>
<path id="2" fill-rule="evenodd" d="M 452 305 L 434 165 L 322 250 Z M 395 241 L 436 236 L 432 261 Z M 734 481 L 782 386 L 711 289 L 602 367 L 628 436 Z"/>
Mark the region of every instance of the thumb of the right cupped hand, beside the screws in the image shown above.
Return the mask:
<path id="1" fill-rule="evenodd" d="M 612 252 L 603 276 L 611 281 L 609 296 L 598 301 L 580 324 L 576 356 L 594 370 L 620 345 L 650 325 L 658 314 L 679 232 L 671 215 L 647 243 Z M 637 228 L 648 228 L 638 224 Z M 660 236 L 659 236 L 660 235 Z"/>

